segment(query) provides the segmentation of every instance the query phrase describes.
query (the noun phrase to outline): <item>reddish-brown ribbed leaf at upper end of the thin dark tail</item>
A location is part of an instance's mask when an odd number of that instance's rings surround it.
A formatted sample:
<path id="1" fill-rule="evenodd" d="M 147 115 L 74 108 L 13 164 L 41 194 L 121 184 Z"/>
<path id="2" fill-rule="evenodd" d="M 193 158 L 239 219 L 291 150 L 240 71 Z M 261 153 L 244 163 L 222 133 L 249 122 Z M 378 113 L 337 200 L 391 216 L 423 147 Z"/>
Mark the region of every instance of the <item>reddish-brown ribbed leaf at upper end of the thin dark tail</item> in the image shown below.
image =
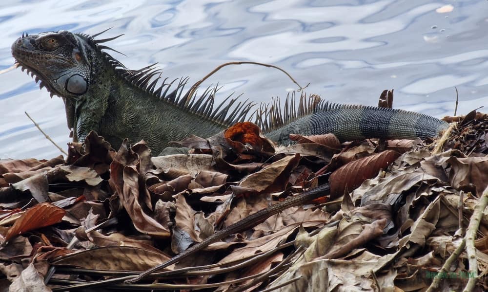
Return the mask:
<path id="1" fill-rule="evenodd" d="M 340 197 L 344 191 L 350 192 L 367 179 L 375 177 L 380 169 L 385 169 L 399 156 L 400 153 L 396 151 L 386 150 L 339 167 L 329 178 L 330 199 Z"/>

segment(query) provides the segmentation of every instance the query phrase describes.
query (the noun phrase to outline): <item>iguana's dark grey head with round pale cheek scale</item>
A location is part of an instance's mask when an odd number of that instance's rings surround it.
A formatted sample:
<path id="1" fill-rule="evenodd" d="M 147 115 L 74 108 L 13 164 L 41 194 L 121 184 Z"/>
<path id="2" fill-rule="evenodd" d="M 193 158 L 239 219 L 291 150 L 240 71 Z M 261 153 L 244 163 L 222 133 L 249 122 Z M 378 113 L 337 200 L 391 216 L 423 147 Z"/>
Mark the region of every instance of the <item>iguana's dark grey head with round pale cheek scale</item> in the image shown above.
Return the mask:
<path id="1" fill-rule="evenodd" d="M 93 52 L 86 39 L 68 31 L 23 35 L 12 55 L 51 95 L 78 98 L 88 90 Z"/>

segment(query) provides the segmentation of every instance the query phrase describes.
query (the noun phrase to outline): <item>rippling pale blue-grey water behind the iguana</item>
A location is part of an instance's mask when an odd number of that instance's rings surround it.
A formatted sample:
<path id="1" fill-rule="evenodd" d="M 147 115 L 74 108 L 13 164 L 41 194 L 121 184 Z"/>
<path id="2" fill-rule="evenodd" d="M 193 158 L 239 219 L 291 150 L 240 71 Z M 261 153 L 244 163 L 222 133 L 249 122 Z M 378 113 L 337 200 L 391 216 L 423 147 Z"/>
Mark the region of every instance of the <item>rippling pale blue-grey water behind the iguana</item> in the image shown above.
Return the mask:
<path id="1" fill-rule="evenodd" d="M 449 12 L 450 11 L 450 12 Z M 12 66 L 22 32 L 71 30 L 102 37 L 127 56 L 127 67 L 159 62 L 173 78 L 196 82 L 229 61 L 271 63 L 309 93 L 332 102 L 377 104 L 395 89 L 393 106 L 437 117 L 488 105 L 488 2 L 466 1 L 77 1 L 6 0 L 0 4 L 0 71 Z M 274 69 L 229 66 L 209 83 L 255 101 L 297 87 Z M 20 69 L 0 74 L 0 158 L 51 158 L 70 141 L 64 108 Z"/>

